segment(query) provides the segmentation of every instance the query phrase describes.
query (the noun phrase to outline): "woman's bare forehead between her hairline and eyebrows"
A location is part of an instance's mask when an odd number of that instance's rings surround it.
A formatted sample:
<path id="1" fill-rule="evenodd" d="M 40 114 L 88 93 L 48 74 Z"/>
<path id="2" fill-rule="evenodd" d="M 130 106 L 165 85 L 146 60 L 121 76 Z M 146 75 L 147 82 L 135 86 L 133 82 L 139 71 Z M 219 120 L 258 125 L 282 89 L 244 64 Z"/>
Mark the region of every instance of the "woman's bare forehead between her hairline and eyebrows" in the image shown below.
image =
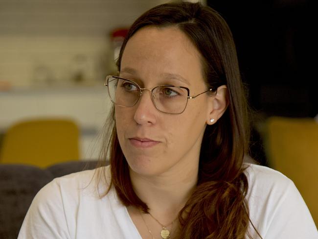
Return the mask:
<path id="1" fill-rule="evenodd" d="M 126 71 L 130 69 L 130 71 Z M 129 39 L 121 59 L 121 74 L 156 79 L 178 74 L 189 85 L 202 79 L 201 54 L 177 27 L 148 26 Z"/>

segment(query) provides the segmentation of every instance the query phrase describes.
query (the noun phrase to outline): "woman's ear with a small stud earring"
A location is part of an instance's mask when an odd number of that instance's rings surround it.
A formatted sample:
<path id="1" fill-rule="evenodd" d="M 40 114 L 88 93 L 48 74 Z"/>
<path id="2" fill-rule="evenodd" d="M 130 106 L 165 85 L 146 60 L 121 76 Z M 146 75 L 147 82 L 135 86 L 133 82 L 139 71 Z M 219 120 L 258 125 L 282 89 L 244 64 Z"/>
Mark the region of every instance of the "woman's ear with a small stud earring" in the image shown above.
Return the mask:
<path id="1" fill-rule="evenodd" d="M 210 97 L 208 105 L 209 111 L 207 112 L 206 123 L 211 125 L 220 119 L 227 109 L 228 93 L 226 85 L 218 87 L 216 94 Z"/>

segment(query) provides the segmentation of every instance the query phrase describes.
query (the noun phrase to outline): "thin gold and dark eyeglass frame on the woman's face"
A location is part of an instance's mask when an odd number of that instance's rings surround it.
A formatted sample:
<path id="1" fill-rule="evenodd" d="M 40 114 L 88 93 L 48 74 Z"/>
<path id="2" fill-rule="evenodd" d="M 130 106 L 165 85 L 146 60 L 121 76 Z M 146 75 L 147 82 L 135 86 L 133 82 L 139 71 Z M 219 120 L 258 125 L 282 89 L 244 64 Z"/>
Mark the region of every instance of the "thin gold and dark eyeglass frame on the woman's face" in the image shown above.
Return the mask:
<path id="1" fill-rule="evenodd" d="M 132 82 L 133 84 L 135 84 L 136 86 L 138 86 L 139 92 L 140 92 L 140 93 L 139 93 L 139 97 L 138 97 L 138 99 L 136 100 L 136 102 L 135 102 L 133 105 L 131 105 L 131 106 L 126 106 L 126 105 L 120 105 L 120 104 L 117 104 L 117 103 L 114 102 L 114 100 L 113 100 L 112 97 L 111 97 L 111 94 L 110 94 L 110 91 L 109 91 L 109 84 L 108 84 L 108 80 L 109 80 L 111 77 L 118 78 L 118 79 L 122 79 L 122 80 L 125 80 L 125 81 L 129 81 L 129 82 Z M 143 92 L 144 92 L 144 91 L 150 91 L 150 93 L 151 93 L 151 94 L 150 94 L 151 101 L 153 102 L 153 104 L 154 104 L 154 106 L 156 107 L 156 109 L 159 110 L 159 111 L 162 112 L 162 113 L 171 114 L 171 115 L 180 115 L 180 114 L 182 114 L 182 113 L 184 112 L 184 110 L 185 110 L 187 104 L 188 104 L 188 100 L 189 100 L 189 99 L 194 99 L 194 98 L 196 98 L 197 96 L 200 96 L 200 95 L 202 95 L 202 94 L 204 94 L 204 93 L 206 93 L 206 92 L 212 92 L 212 91 L 213 91 L 213 88 L 210 88 L 210 89 L 208 89 L 208 90 L 206 90 L 206 91 L 204 91 L 204 92 L 202 92 L 202 93 L 200 93 L 200 94 L 198 94 L 198 95 L 196 95 L 196 96 L 190 96 L 190 89 L 187 88 L 187 87 L 184 87 L 184 86 L 159 85 L 159 86 L 155 86 L 155 87 L 152 88 L 152 89 L 147 89 L 147 88 L 141 88 L 141 87 L 140 87 L 135 81 L 133 81 L 133 80 L 126 79 L 126 78 L 123 78 L 123 77 L 119 77 L 119 76 L 116 76 L 116 75 L 107 75 L 107 76 L 106 76 L 106 79 L 105 79 L 104 86 L 107 86 L 108 95 L 109 95 L 111 101 L 112 101 L 115 105 L 118 105 L 118 106 L 121 106 L 121 107 L 133 107 L 133 106 L 135 106 L 136 103 L 139 101 L 140 97 L 142 96 Z M 152 91 L 153 91 L 154 89 L 156 89 L 157 87 L 161 87 L 161 86 L 178 87 L 178 88 L 185 89 L 185 90 L 187 91 L 188 96 L 187 96 L 187 100 L 186 100 L 186 103 L 185 103 L 185 106 L 184 106 L 184 109 L 182 110 L 182 112 L 180 112 L 180 113 L 169 113 L 169 112 L 161 111 L 161 110 L 158 108 L 158 106 L 156 105 L 156 103 L 155 103 L 155 101 L 154 101 Z"/>

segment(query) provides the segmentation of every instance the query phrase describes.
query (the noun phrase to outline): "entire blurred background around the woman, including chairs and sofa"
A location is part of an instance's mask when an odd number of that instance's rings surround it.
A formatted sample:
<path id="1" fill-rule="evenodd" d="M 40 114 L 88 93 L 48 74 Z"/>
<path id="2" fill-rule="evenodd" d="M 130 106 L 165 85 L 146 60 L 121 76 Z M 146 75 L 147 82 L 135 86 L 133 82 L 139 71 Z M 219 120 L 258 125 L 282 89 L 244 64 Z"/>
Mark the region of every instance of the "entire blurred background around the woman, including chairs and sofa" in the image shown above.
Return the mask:
<path id="1" fill-rule="evenodd" d="M 52 178 L 95 167 L 111 107 L 105 76 L 116 74 L 130 24 L 165 2 L 0 0 L 0 238 L 17 238 Z M 317 224 L 313 1 L 201 2 L 220 12 L 236 43 L 252 109 L 247 160 L 290 177 Z"/>

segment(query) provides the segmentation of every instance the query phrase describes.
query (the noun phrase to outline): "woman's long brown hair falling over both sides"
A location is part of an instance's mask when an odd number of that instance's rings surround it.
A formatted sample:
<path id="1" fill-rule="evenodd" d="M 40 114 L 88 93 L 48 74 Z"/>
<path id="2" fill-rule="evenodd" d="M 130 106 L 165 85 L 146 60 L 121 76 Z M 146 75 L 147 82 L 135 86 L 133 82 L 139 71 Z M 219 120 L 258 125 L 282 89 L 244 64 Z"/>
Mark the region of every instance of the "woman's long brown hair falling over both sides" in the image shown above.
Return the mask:
<path id="1" fill-rule="evenodd" d="M 178 27 L 202 55 L 207 87 L 227 85 L 228 89 L 226 112 L 215 124 L 206 126 L 198 183 L 179 214 L 178 238 L 243 239 L 249 235 L 250 219 L 245 201 L 248 181 L 242 164 L 250 135 L 246 96 L 231 31 L 216 11 L 200 3 L 156 6 L 131 26 L 120 50 L 118 71 L 127 42 L 144 26 Z M 117 138 L 114 108 L 110 120 L 110 150 L 105 149 L 104 153 L 110 154 L 111 185 L 125 206 L 135 206 L 147 213 L 148 206 L 133 190 L 129 166 Z"/>

